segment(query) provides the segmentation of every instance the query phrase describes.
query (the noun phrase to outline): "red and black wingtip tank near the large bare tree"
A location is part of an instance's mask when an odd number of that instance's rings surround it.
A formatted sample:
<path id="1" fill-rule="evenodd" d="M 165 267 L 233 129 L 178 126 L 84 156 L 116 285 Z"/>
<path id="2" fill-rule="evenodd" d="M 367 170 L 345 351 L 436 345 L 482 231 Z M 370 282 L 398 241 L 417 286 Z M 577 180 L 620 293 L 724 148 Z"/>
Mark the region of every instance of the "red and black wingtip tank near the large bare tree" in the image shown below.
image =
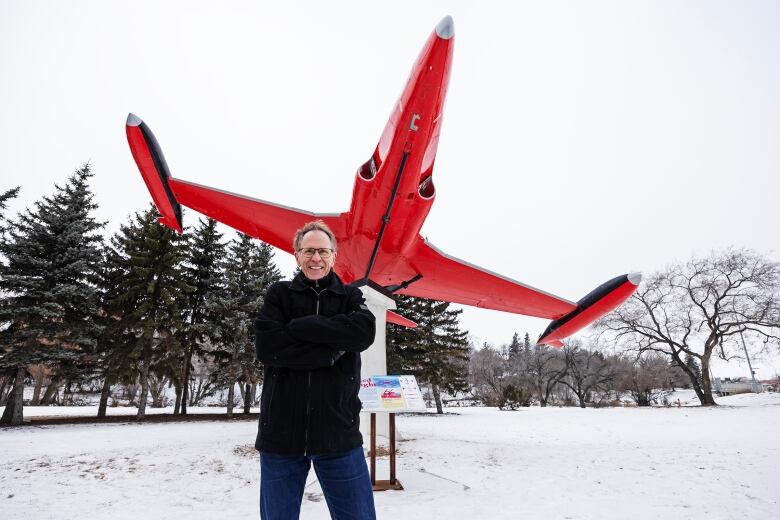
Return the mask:
<path id="1" fill-rule="evenodd" d="M 592 290 L 577 302 L 577 308 L 551 322 L 539 336 L 538 344 L 561 348 L 562 340 L 590 325 L 626 301 L 639 287 L 641 273 L 615 277 Z"/>

